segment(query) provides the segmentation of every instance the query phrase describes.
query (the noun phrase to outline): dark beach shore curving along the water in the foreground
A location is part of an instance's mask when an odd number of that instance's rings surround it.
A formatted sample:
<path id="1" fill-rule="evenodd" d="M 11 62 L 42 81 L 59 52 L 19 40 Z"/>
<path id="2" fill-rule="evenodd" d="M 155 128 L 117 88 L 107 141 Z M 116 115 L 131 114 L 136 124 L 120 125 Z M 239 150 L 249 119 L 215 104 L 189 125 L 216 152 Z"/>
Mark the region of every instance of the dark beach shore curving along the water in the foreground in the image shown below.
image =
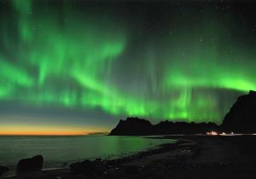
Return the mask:
<path id="1" fill-rule="evenodd" d="M 177 143 L 103 159 L 100 169 L 90 174 L 63 168 L 8 178 L 254 178 L 256 136 L 163 137 Z"/>

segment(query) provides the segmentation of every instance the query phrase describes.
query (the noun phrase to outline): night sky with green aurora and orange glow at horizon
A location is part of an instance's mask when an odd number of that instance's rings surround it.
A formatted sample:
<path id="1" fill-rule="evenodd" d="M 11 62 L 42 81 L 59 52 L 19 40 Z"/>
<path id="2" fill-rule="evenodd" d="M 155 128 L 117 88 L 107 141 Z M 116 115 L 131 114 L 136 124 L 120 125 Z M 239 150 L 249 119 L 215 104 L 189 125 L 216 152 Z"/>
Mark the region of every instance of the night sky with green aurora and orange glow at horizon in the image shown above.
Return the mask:
<path id="1" fill-rule="evenodd" d="M 221 124 L 256 90 L 253 1 L 0 0 L 0 134 L 127 116 Z"/>

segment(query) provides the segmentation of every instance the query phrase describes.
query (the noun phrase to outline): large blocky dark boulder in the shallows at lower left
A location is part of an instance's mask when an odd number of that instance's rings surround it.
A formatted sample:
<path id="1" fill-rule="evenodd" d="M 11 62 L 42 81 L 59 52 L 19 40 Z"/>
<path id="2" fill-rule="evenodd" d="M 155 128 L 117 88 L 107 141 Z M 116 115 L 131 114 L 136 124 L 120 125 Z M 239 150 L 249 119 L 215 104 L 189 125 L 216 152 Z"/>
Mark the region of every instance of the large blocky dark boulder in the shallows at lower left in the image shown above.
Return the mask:
<path id="1" fill-rule="evenodd" d="M 37 155 L 28 159 L 20 159 L 17 165 L 17 173 L 42 170 L 44 158 L 42 155 Z"/>

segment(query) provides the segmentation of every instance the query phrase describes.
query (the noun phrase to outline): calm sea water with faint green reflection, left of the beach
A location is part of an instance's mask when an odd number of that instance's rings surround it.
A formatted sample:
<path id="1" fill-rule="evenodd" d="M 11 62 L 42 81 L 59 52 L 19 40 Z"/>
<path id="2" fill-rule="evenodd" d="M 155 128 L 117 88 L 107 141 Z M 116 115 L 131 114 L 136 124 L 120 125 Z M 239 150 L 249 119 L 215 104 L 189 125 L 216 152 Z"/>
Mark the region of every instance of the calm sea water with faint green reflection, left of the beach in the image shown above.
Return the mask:
<path id="1" fill-rule="evenodd" d="M 0 165 L 15 166 L 20 159 L 44 156 L 44 167 L 59 167 L 82 159 L 119 157 L 143 151 L 171 139 L 140 136 L 0 136 Z"/>

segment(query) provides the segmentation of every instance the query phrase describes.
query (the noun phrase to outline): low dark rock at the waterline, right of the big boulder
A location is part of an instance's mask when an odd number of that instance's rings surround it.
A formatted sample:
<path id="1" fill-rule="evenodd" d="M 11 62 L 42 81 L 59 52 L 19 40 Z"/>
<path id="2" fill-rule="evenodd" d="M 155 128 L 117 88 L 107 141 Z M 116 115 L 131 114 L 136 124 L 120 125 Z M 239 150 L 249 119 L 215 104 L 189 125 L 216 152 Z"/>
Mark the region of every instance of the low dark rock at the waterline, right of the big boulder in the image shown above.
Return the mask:
<path id="1" fill-rule="evenodd" d="M 69 168 L 74 173 L 91 174 L 96 171 L 96 164 L 86 159 L 82 162 L 71 164 Z"/>

